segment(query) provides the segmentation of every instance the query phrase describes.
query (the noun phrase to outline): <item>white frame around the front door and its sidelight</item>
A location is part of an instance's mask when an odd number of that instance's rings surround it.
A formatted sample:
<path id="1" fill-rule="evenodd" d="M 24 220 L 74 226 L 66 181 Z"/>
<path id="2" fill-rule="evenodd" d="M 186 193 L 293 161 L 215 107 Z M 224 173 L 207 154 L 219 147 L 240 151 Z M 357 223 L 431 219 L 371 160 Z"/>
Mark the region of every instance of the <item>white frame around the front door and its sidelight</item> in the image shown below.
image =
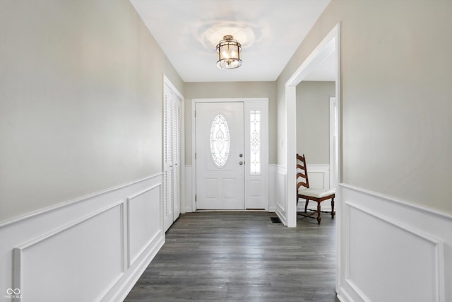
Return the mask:
<path id="1" fill-rule="evenodd" d="M 191 100 L 191 211 L 196 211 L 196 120 L 195 120 L 195 110 L 196 103 L 244 103 L 244 131 L 246 132 L 249 127 L 246 125 L 246 112 L 248 112 L 250 106 L 261 103 L 262 110 L 262 119 L 263 123 L 266 124 L 266 127 L 262 129 L 261 137 L 266 137 L 266 142 L 264 146 L 264 152 L 262 154 L 262 181 L 265 188 L 268 188 L 268 98 L 194 98 Z M 245 133 L 246 137 L 246 133 Z M 246 154 L 246 141 L 245 141 L 245 154 Z M 245 163 L 246 165 L 246 163 Z M 246 165 L 248 167 L 249 165 Z M 245 168 L 245 171 L 247 168 Z M 245 209 L 246 209 L 246 196 L 249 190 L 249 175 L 245 173 Z M 264 190 L 263 199 L 265 202 L 265 207 L 263 208 L 265 211 L 268 211 L 269 208 L 269 200 L 268 200 L 268 189 Z"/>

